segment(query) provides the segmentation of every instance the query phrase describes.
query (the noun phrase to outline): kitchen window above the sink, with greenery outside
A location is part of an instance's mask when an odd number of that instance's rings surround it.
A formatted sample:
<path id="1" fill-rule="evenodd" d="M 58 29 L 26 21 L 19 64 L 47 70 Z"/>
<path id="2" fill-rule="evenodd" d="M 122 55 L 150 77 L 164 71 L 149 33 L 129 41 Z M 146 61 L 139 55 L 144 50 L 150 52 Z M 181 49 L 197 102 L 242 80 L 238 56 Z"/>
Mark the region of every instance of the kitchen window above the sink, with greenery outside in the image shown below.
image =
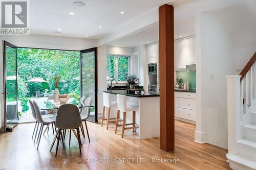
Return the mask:
<path id="1" fill-rule="evenodd" d="M 126 81 L 125 78 L 130 75 L 130 57 L 107 55 L 106 74 L 107 81 L 111 81 L 111 78 L 116 79 L 118 82 Z"/>

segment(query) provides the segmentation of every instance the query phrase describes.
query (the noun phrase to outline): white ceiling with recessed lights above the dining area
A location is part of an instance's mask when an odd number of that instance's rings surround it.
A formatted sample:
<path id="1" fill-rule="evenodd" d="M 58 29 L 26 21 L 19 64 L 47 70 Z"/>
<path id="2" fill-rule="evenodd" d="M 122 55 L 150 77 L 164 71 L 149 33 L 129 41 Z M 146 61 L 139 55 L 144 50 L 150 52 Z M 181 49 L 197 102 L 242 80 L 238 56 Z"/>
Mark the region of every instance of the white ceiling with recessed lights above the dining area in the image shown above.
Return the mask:
<path id="1" fill-rule="evenodd" d="M 75 7 L 74 1 L 30 1 L 30 34 L 99 39 L 172 0 L 80 0 L 84 7 Z M 57 28 L 60 34 L 53 33 Z"/>

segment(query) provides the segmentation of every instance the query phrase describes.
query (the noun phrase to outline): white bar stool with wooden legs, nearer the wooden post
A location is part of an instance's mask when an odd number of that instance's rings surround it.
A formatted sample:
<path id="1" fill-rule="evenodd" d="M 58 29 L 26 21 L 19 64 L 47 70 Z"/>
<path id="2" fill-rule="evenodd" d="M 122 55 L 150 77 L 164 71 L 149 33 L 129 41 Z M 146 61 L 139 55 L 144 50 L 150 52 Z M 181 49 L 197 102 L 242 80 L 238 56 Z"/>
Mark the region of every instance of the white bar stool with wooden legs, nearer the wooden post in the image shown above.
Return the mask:
<path id="1" fill-rule="evenodd" d="M 116 115 L 116 129 L 115 129 L 115 134 L 117 132 L 117 127 L 122 126 L 122 134 L 121 137 L 123 138 L 123 134 L 124 134 L 124 130 L 127 129 L 133 129 L 133 132 L 135 131 L 135 129 L 138 129 L 139 126 L 135 126 L 135 112 L 139 111 L 139 107 L 136 105 L 129 105 L 127 106 L 126 104 L 126 95 L 121 95 L 121 94 L 117 94 L 117 115 Z M 119 125 L 119 114 L 120 112 L 123 113 L 123 123 L 122 125 Z M 126 120 L 126 112 L 133 112 L 133 123 L 129 123 L 129 124 L 125 124 L 125 120 Z M 125 126 L 130 126 L 132 125 L 132 127 L 127 127 L 125 128 Z"/>

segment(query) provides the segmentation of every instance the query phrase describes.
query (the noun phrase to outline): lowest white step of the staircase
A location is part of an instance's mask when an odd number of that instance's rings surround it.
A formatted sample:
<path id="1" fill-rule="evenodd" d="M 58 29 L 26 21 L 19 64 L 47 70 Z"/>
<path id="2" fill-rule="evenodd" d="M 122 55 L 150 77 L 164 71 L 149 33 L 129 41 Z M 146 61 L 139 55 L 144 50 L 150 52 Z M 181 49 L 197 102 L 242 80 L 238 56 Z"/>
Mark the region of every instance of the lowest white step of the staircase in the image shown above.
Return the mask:
<path id="1" fill-rule="evenodd" d="M 253 161 L 249 161 L 247 159 L 241 158 L 238 155 L 233 155 L 233 154 L 227 154 L 226 156 L 227 156 L 227 159 L 229 160 L 229 165 L 231 168 L 232 168 L 232 163 L 234 163 L 234 164 L 240 165 L 241 167 L 256 169 L 256 163 Z M 233 167 L 233 169 L 242 169 L 242 168 L 239 168 L 239 167 L 234 168 Z"/>

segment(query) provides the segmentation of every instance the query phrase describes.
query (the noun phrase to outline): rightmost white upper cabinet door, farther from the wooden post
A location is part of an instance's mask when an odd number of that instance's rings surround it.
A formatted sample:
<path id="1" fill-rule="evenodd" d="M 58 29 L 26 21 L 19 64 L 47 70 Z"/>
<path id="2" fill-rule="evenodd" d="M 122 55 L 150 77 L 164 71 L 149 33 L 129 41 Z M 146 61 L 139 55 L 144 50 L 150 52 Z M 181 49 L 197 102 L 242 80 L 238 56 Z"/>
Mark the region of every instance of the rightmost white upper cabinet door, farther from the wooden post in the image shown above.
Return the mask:
<path id="1" fill-rule="evenodd" d="M 186 65 L 196 64 L 195 61 L 195 38 L 186 39 Z"/>

